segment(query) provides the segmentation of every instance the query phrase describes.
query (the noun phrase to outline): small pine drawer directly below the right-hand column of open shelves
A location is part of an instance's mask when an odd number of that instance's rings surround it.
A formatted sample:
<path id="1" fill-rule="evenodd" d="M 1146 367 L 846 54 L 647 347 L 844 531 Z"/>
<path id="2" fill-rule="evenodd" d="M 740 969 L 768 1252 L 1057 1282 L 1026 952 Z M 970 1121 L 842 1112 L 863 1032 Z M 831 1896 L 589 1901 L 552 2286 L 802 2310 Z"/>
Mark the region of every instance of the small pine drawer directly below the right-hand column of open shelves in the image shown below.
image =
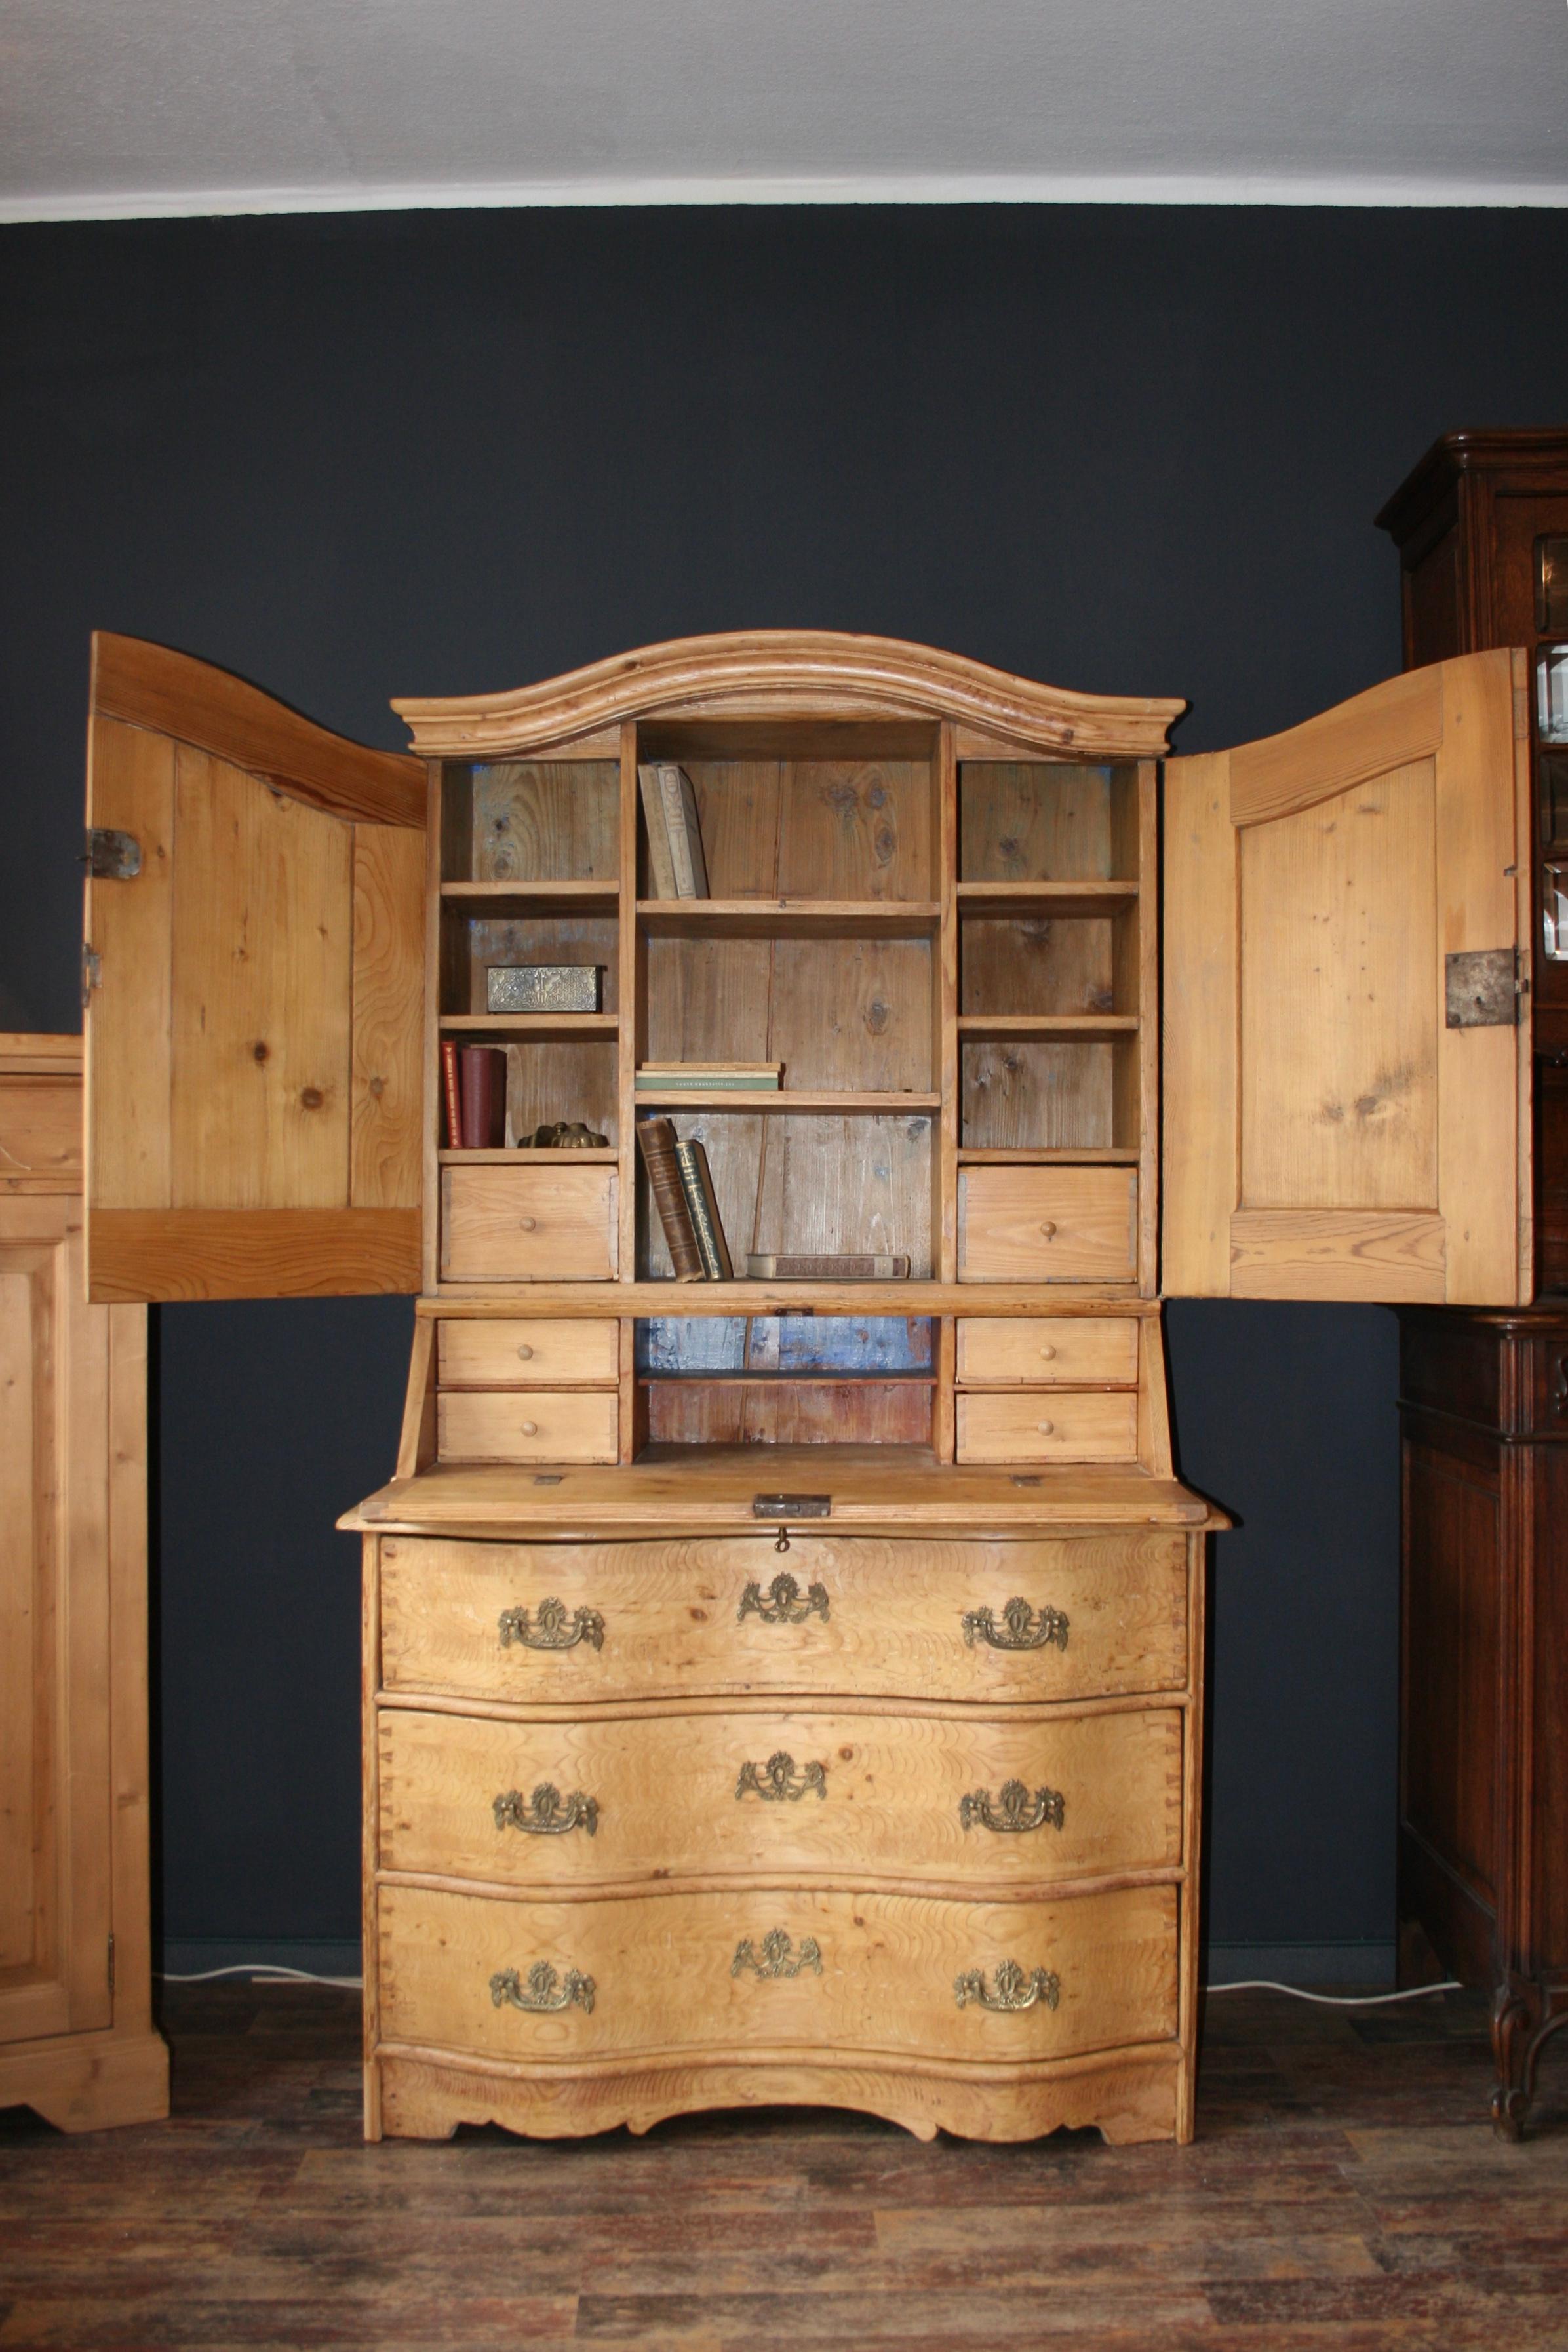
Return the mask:
<path id="1" fill-rule="evenodd" d="M 959 1282 L 1131 1282 L 1135 1268 L 1135 1169 L 959 1171 Z"/>

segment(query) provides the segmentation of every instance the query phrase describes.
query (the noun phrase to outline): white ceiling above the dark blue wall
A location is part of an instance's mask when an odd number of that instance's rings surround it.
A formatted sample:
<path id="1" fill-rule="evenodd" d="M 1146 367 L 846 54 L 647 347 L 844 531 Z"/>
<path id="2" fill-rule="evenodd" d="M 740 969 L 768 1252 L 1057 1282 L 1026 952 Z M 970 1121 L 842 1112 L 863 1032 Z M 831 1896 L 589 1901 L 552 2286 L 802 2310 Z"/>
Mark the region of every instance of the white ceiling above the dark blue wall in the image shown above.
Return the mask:
<path id="1" fill-rule="evenodd" d="M 0 219 L 823 200 L 1566 205 L 1568 5 L 0 0 Z"/>

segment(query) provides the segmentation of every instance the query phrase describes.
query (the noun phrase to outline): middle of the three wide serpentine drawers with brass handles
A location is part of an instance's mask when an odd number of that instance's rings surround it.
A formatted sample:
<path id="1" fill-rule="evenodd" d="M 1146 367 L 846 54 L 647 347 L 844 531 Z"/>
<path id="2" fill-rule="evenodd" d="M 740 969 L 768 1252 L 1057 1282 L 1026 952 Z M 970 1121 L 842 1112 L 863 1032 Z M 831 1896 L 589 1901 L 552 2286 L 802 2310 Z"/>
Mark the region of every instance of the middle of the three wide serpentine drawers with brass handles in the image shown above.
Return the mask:
<path id="1" fill-rule="evenodd" d="M 508 1886 L 785 1870 L 1048 1886 L 1180 1863 L 1175 1708 L 381 1710 L 381 1867 Z"/>

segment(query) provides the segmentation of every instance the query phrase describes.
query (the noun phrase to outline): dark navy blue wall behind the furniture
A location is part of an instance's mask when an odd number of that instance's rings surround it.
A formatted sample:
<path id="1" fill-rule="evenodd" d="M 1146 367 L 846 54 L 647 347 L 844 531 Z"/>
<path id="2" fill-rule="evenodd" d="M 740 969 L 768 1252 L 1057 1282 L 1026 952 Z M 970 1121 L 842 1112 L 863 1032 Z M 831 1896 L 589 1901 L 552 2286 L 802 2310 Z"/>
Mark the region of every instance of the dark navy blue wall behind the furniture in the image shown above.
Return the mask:
<path id="1" fill-rule="evenodd" d="M 1185 694 L 1399 668 L 1371 515 L 1568 405 L 1559 214 L 534 212 L 0 230 L 0 1025 L 75 1028 L 87 633 L 390 694 L 813 623 Z M 357 1924 L 355 1548 L 404 1303 L 160 1317 L 172 1936 Z M 1171 1312 L 1218 1543 L 1211 1931 L 1392 1936 L 1394 1324 Z"/>

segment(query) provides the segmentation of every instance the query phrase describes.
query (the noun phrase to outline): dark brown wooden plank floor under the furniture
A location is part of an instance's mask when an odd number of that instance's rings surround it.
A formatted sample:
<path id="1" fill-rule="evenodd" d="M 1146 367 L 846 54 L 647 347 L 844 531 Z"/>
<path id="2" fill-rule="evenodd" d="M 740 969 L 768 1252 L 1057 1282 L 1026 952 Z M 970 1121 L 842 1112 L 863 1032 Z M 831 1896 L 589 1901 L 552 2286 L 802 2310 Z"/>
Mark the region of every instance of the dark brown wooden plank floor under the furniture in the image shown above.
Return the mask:
<path id="1" fill-rule="evenodd" d="M 360 2140 L 357 1999 L 169 1987 L 169 2124 L 0 2117 L 0 2347 L 1568 2347 L 1568 2051 L 1486 2122 L 1486 2002 L 1211 2002 L 1199 2138 L 922 2145 L 773 2110 Z"/>

